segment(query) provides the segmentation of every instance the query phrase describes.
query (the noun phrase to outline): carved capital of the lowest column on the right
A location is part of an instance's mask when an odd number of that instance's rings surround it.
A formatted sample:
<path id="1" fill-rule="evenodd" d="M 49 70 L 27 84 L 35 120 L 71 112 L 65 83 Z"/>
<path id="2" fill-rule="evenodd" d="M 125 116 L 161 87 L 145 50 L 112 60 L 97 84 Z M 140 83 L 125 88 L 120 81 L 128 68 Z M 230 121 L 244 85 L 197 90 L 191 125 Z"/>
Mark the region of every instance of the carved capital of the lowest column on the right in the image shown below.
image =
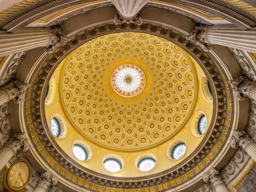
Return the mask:
<path id="1" fill-rule="evenodd" d="M 224 184 L 220 172 L 212 167 L 209 171 L 205 172 L 202 175 L 202 178 L 205 183 L 210 183 L 212 188 L 215 188 L 219 184 Z"/>

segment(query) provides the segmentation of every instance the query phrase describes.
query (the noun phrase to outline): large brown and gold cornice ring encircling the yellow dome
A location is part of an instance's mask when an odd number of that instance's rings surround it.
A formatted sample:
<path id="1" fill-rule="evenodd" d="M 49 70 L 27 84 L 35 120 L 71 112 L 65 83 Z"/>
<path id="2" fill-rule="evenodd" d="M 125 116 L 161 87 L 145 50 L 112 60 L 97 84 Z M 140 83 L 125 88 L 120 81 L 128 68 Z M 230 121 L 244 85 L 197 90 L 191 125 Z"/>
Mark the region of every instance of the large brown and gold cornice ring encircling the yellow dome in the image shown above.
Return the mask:
<path id="1" fill-rule="evenodd" d="M 49 129 L 45 128 L 46 120 L 44 116 L 44 93 L 46 85 L 61 60 L 70 52 L 85 42 L 106 34 L 124 31 L 137 31 L 149 33 L 165 38 L 187 51 L 202 67 L 212 90 L 213 99 L 216 106 L 213 111 L 213 120 L 203 142 L 196 149 L 195 153 L 182 161 L 179 165 L 170 170 L 156 175 L 143 178 L 117 178 L 101 175 L 92 172 L 74 162 L 66 156 L 53 140 Z M 122 189 L 128 191 L 165 191 L 177 187 L 191 180 L 200 174 L 212 163 L 221 153 L 221 149 L 227 142 L 230 128 L 232 127 L 234 108 L 233 98 L 224 70 L 215 61 L 214 56 L 209 52 L 203 52 L 192 42 L 186 39 L 186 34 L 181 34 L 177 29 L 169 28 L 163 24 L 145 22 L 141 25 L 121 24 L 115 25 L 112 21 L 105 24 L 94 25 L 78 31 L 69 36 L 71 41 L 60 47 L 52 54 L 45 54 L 40 64 L 36 67 L 29 83 L 27 100 L 24 105 L 24 117 L 27 122 L 27 132 L 32 146 L 41 156 L 41 159 L 48 164 L 51 169 L 59 172 L 60 177 L 68 179 L 76 185 L 80 185 L 92 191 L 116 191 Z M 152 187 L 151 187 L 152 186 Z M 131 189 L 132 187 L 132 189 Z"/>

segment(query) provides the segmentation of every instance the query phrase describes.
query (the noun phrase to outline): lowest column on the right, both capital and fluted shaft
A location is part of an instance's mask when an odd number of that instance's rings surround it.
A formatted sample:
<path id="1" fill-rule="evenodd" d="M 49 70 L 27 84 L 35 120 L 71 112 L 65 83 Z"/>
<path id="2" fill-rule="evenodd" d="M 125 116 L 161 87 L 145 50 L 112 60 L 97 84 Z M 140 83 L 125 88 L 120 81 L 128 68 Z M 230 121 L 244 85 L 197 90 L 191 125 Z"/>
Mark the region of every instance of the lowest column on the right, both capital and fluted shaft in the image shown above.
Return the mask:
<path id="1" fill-rule="evenodd" d="M 210 183 L 216 192 L 229 192 L 227 186 L 221 179 L 220 172 L 212 167 L 209 171 L 202 175 L 204 182 Z"/>

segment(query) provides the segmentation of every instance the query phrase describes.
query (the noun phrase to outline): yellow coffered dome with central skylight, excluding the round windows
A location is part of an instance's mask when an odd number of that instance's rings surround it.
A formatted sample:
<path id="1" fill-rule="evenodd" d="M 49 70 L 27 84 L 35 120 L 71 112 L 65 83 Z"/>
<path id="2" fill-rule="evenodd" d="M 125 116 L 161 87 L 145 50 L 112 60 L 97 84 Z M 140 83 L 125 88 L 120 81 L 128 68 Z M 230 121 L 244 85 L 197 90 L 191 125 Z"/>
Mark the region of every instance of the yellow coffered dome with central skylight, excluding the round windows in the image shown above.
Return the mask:
<path id="1" fill-rule="evenodd" d="M 138 32 L 100 36 L 76 48 L 52 74 L 56 93 L 45 104 L 47 124 L 50 129 L 54 116 L 63 119 L 64 137 L 54 140 L 90 170 L 117 177 L 163 172 L 203 140 L 204 134 L 195 132 L 198 114 L 210 125 L 213 101 L 205 97 L 202 77 L 202 68 L 186 51 L 161 37 Z M 88 144 L 88 161 L 76 160 L 72 146 L 77 141 Z M 172 148 L 181 141 L 186 153 L 172 159 Z M 103 167 L 108 154 L 121 159 L 120 172 Z M 141 155 L 153 156 L 156 168 L 141 172 Z"/>

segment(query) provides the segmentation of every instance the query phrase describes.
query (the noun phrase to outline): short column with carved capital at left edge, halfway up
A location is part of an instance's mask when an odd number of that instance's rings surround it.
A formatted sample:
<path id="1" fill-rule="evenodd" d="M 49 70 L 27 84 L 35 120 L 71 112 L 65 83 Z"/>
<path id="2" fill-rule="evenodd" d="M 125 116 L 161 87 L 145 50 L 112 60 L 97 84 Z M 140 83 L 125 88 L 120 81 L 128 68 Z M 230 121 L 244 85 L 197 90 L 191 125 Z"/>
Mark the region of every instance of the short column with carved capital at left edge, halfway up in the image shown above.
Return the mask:
<path id="1" fill-rule="evenodd" d="M 9 102 L 10 100 L 16 103 L 22 103 L 25 99 L 24 95 L 28 86 L 28 83 L 15 79 L 0 87 L 0 106 Z"/>

